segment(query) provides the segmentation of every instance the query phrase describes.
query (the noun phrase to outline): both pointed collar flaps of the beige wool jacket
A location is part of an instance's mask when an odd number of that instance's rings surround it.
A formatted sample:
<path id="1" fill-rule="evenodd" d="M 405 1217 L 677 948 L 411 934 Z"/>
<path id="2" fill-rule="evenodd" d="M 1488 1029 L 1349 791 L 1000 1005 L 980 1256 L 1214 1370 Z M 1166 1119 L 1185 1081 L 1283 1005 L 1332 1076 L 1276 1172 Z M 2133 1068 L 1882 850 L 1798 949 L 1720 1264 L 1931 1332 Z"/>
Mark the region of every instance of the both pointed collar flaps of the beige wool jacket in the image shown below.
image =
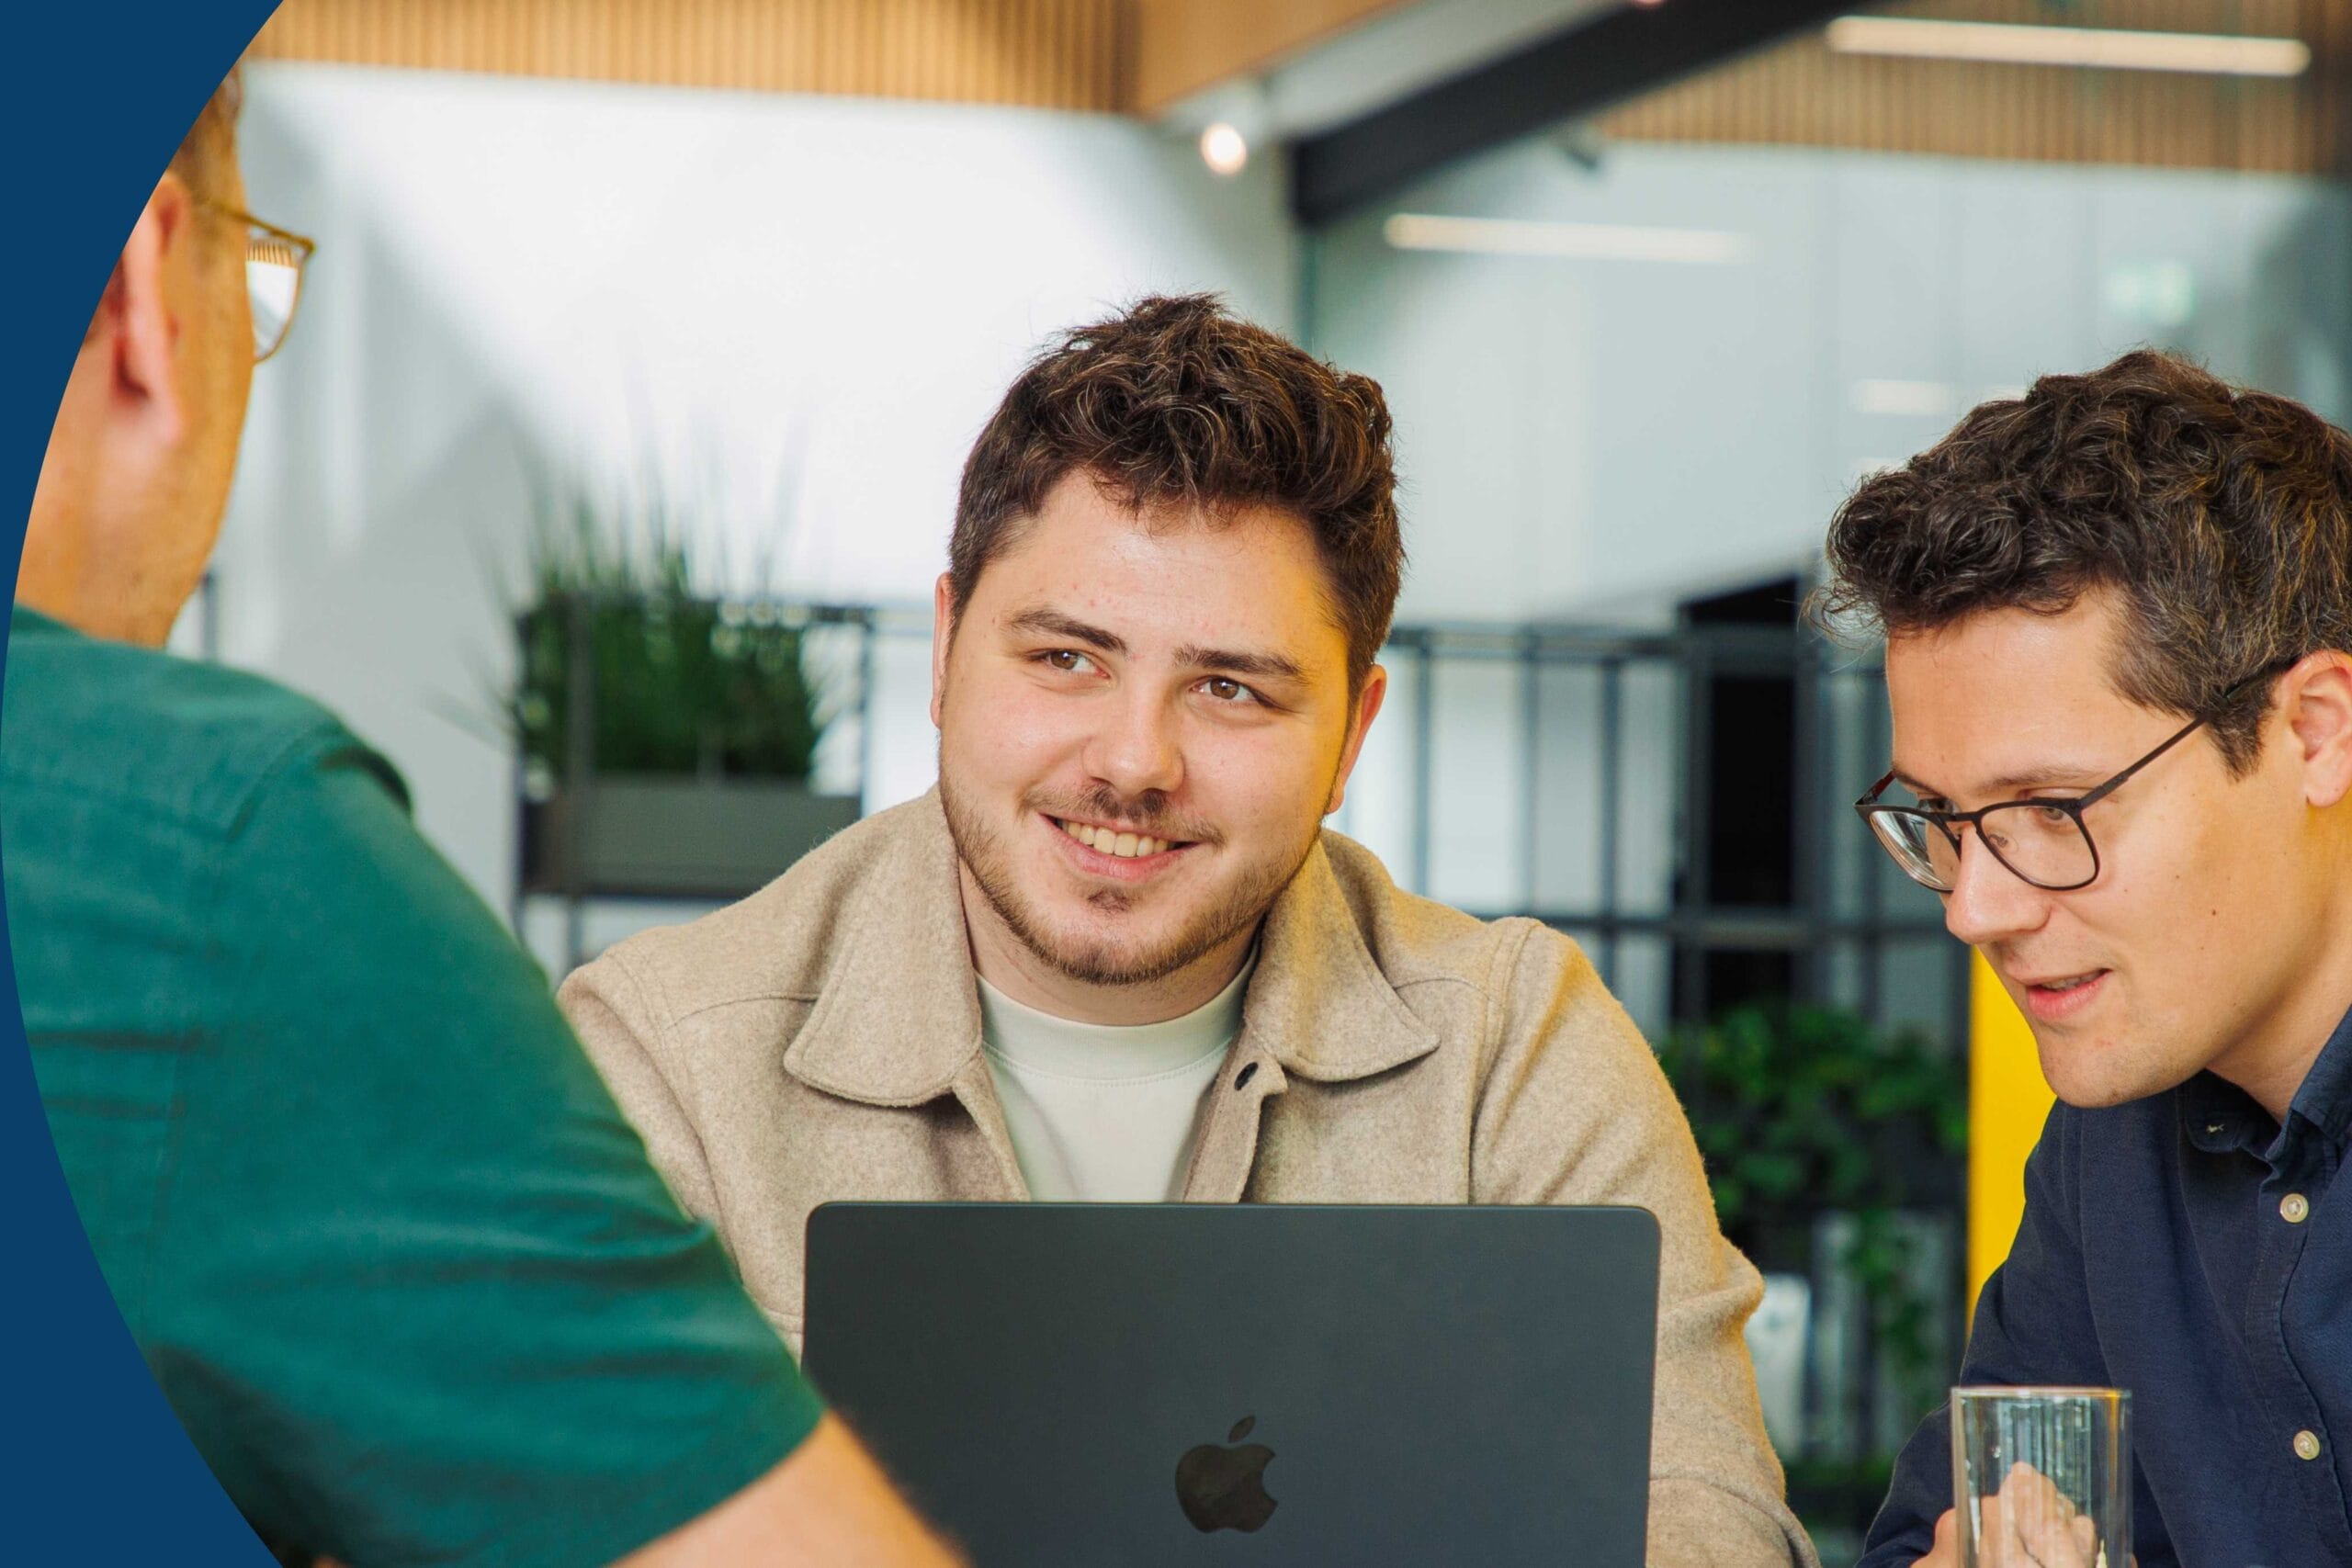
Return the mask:
<path id="1" fill-rule="evenodd" d="M 920 1105 L 955 1093 L 978 1058 L 981 999 L 938 792 L 891 816 L 891 842 L 842 910 L 833 964 L 783 1067 L 847 1100 Z M 1237 1051 L 1338 1084 L 1437 1048 L 1364 945 L 1322 842 L 1258 940 Z"/>

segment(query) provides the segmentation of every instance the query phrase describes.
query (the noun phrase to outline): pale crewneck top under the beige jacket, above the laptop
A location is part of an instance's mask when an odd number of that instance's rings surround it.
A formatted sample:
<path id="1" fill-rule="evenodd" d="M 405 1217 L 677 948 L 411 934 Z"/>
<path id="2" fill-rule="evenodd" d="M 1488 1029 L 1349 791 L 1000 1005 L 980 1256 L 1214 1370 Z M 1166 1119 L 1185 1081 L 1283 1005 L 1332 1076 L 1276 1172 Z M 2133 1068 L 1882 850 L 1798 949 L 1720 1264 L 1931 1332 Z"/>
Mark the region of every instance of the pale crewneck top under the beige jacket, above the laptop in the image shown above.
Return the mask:
<path id="1" fill-rule="evenodd" d="M 1162 1204 L 1183 1197 L 1200 1107 L 1242 1032 L 1232 985 L 1183 1018 L 1073 1023 L 981 980 L 981 1044 L 1033 1199 Z"/>

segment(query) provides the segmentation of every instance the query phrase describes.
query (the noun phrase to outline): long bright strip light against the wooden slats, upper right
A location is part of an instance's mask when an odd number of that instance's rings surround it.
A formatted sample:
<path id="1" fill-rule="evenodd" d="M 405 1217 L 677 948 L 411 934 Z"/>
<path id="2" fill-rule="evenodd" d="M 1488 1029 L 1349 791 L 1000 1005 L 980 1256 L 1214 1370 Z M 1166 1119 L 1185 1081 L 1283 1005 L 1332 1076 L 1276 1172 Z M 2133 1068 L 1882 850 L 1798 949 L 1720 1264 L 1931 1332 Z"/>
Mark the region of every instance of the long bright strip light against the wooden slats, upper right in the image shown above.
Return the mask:
<path id="1" fill-rule="evenodd" d="M 2300 38 L 2044 28 L 2006 21 L 1926 21 L 1919 16 L 1839 16 L 1830 24 L 1830 47 L 1839 54 L 2211 75 L 2303 75 L 2312 66 L 2312 47 Z"/>

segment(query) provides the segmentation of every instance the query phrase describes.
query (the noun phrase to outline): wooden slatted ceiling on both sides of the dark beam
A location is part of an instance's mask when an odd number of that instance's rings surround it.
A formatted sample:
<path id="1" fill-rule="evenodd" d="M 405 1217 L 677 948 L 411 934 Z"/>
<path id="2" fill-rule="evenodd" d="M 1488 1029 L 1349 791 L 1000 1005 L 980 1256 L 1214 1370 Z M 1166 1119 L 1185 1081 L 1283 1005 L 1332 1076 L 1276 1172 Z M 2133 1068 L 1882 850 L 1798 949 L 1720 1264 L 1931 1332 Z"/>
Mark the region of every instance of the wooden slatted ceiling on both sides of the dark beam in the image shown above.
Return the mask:
<path id="1" fill-rule="evenodd" d="M 287 0 L 263 59 L 1155 113 L 1409 0 Z M 1668 0 L 1672 2 L 1672 0 Z M 2352 0 L 1915 0 L 1903 16 L 2300 35 L 2249 80 L 1832 54 L 1818 33 L 1602 120 L 1628 141 L 2336 172 Z"/>

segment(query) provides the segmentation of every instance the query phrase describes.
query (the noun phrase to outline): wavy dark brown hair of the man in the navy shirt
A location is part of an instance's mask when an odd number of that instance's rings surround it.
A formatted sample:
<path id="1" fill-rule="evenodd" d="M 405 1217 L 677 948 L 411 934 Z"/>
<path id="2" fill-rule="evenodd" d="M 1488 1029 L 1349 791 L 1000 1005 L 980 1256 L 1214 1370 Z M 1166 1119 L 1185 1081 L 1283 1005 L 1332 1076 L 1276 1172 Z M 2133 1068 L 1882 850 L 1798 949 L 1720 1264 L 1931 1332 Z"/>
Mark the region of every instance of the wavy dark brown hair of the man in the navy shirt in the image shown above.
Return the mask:
<path id="1" fill-rule="evenodd" d="M 1813 618 L 1893 635 L 2119 597 L 2114 684 L 2253 766 L 2267 682 L 2352 649 L 2352 437 L 2154 350 L 1987 402 L 1830 524 Z M 2234 698 L 2232 689 L 2244 686 Z"/>

